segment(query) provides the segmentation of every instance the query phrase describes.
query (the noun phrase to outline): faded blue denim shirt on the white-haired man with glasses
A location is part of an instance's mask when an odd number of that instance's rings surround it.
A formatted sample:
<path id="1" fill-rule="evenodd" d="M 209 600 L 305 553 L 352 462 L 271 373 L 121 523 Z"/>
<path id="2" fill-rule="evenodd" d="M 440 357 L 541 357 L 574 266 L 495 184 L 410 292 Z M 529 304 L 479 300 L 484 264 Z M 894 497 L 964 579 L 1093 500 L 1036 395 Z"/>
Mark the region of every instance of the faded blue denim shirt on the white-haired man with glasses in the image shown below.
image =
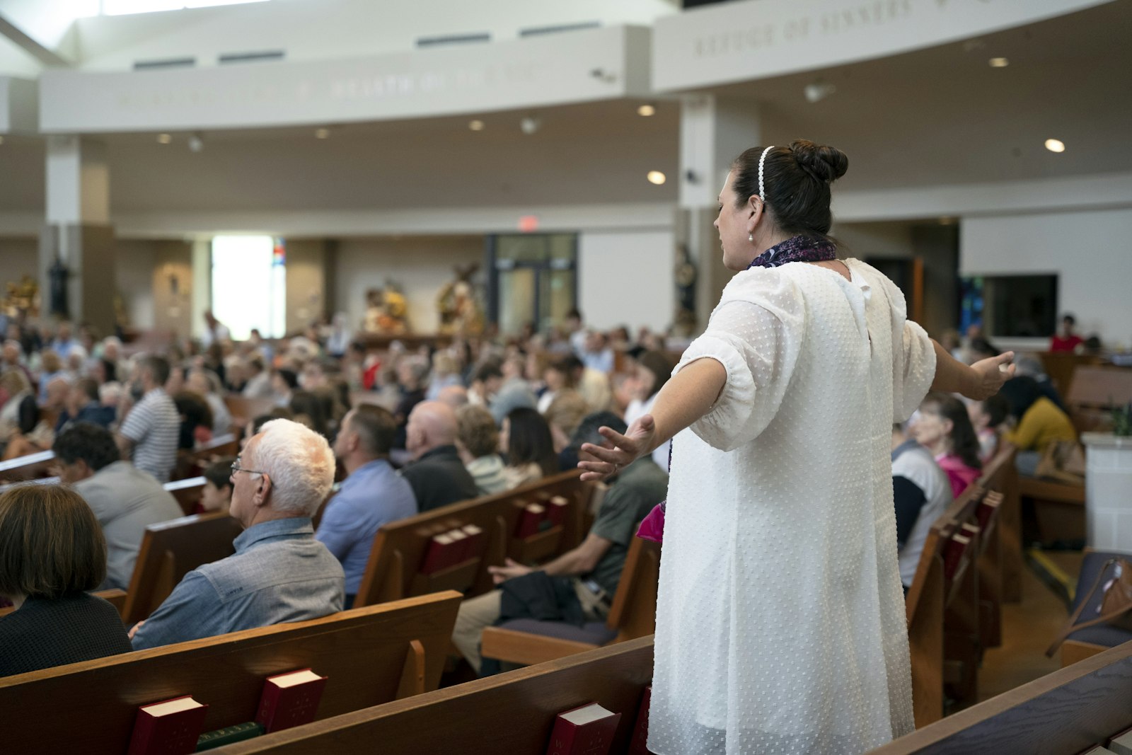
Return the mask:
<path id="1" fill-rule="evenodd" d="M 342 610 L 342 566 L 308 517 L 248 527 L 235 554 L 188 574 L 134 635 L 134 650 L 305 621 Z"/>

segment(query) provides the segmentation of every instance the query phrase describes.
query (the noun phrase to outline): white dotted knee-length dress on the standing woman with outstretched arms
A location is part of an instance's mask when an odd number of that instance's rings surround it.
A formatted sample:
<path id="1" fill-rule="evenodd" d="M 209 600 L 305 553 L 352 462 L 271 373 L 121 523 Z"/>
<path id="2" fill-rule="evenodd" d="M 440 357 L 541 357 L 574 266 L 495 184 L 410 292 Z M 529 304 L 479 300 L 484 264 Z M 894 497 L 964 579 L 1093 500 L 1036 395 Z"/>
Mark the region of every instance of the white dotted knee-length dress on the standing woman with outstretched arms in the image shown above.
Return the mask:
<path id="1" fill-rule="evenodd" d="M 727 368 L 674 439 L 649 748 L 861 753 L 912 730 L 891 427 L 935 375 L 900 290 L 791 263 L 737 274 L 677 370 Z"/>

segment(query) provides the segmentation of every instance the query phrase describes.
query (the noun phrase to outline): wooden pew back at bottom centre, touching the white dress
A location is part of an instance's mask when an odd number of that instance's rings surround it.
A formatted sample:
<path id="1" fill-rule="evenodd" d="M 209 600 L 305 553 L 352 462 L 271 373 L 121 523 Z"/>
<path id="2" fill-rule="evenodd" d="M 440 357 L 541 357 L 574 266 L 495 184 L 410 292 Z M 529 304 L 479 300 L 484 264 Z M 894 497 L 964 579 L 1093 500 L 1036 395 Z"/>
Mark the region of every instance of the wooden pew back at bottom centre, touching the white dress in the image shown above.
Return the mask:
<path id="1" fill-rule="evenodd" d="M 610 753 L 625 753 L 652 679 L 652 637 L 398 700 L 235 743 L 217 755 L 544 753 L 555 717 L 597 702 L 621 720 Z"/>

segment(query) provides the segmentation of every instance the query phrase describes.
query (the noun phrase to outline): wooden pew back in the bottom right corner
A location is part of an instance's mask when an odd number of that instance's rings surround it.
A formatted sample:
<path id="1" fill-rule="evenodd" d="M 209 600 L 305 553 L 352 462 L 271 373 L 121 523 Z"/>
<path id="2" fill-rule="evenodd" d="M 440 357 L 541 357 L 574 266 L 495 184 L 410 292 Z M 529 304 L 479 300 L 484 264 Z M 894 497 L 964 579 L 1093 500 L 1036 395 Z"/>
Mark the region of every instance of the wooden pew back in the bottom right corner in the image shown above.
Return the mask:
<path id="1" fill-rule="evenodd" d="M 871 755 L 1077 755 L 1132 726 L 1130 700 L 1132 642 L 949 715 Z"/>

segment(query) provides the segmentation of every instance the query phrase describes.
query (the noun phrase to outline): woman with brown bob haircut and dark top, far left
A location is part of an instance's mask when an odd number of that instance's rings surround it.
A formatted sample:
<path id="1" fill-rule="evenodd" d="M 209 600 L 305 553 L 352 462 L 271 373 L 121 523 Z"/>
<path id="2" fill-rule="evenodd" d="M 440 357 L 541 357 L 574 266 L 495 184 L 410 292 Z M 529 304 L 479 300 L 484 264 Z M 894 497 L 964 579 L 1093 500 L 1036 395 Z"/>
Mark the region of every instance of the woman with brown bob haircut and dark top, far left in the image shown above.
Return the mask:
<path id="1" fill-rule="evenodd" d="M 106 541 L 82 496 L 58 484 L 0 494 L 0 677 L 128 653 L 118 610 L 94 595 Z"/>

